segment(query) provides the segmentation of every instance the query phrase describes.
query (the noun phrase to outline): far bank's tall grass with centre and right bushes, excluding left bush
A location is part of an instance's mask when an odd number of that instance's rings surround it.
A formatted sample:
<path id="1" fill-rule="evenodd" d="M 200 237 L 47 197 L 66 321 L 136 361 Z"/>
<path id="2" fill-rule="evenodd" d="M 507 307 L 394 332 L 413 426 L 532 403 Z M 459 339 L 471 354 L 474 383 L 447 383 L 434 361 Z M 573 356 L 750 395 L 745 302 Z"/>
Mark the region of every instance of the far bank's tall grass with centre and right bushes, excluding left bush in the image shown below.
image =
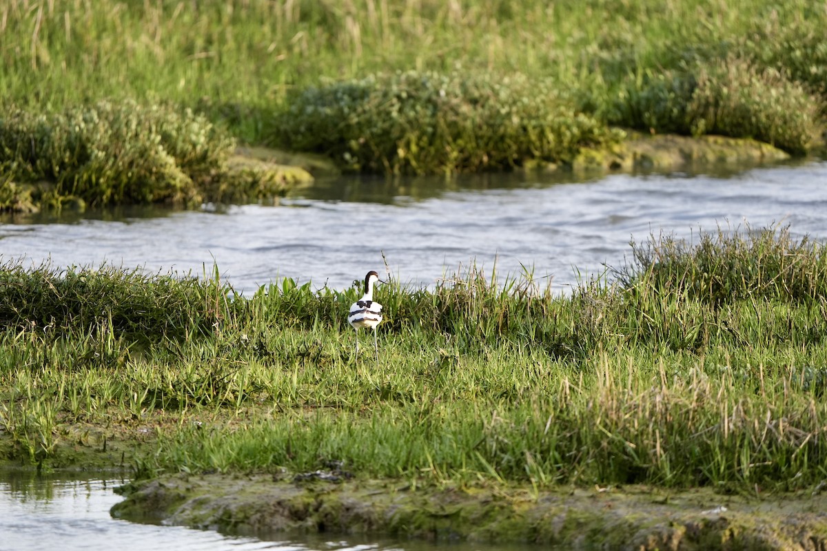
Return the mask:
<path id="1" fill-rule="evenodd" d="M 814 0 L 14 0 L 0 21 L 4 107 L 169 102 L 345 169 L 570 164 L 614 127 L 807 154 L 825 130 Z"/>

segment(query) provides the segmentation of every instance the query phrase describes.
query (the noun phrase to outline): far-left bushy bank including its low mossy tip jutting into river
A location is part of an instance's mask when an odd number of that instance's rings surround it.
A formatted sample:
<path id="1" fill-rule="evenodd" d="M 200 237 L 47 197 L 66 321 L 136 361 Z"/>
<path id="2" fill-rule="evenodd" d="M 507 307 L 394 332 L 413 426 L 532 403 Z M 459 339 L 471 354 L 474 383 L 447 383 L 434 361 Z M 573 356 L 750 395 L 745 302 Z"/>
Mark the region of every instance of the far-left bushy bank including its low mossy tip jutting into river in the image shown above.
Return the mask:
<path id="1" fill-rule="evenodd" d="M 311 179 L 241 158 L 236 140 L 189 109 L 127 101 L 0 118 L 0 211 L 272 199 Z"/>

